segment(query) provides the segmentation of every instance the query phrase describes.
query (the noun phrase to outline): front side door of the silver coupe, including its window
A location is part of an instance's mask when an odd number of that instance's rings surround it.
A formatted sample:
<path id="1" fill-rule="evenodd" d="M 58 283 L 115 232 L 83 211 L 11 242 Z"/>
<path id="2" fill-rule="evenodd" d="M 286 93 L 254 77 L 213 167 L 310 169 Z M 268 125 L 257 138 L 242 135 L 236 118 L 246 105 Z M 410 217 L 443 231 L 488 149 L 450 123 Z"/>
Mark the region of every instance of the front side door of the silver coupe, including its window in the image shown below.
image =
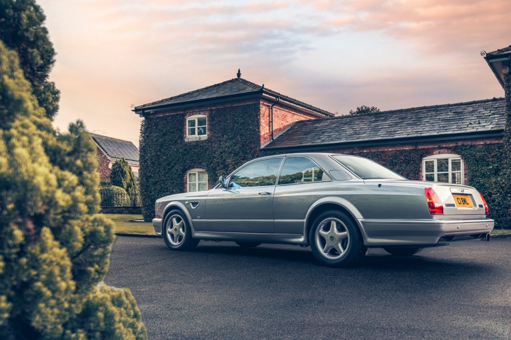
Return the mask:
<path id="1" fill-rule="evenodd" d="M 273 193 L 283 157 L 247 163 L 211 190 L 206 200 L 210 231 L 274 233 Z"/>

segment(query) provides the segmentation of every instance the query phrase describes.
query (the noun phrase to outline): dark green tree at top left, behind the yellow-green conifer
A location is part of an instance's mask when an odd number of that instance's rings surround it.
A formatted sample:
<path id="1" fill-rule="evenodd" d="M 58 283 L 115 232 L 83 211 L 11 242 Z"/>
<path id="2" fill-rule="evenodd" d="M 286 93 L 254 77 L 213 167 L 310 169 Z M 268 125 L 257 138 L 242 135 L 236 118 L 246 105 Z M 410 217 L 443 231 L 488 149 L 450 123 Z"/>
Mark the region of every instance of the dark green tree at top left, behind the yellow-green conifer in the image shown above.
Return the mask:
<path id="1" fill-rule="evenodd" d="M 55 50 L 43 26 L 45 19 L 34 0 L 0 0 L 0 40 L 18 53 L 38 105 L 53 119 L 59 109 L 60 91 L 48 81 Z"/>

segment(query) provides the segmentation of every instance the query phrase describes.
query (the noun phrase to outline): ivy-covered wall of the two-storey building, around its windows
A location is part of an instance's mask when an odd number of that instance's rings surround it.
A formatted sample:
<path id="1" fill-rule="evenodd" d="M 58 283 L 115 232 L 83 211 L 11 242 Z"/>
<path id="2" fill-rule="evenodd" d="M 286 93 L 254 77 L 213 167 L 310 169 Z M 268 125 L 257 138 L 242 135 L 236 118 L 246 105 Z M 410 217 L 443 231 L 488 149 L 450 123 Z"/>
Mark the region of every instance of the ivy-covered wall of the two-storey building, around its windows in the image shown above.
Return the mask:
<path id="1" fill-rule="evenodd" d="M 141 126 L 140 193 L 144 220 L 156 199 L 184 192 L 188 170 L 203 168 L 210 187 L 244 162 L 260 156 L 259 102 L 208 110 L 205 140 L 184 141 L 185 113 L 148 116 Z"/>

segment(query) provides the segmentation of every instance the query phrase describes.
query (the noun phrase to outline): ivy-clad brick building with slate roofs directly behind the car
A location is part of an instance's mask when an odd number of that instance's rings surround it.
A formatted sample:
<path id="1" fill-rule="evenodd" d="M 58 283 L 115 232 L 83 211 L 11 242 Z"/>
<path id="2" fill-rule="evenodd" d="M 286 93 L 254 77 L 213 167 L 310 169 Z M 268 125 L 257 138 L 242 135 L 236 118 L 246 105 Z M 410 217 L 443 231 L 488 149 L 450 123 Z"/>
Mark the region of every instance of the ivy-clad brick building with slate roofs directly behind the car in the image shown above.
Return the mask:
<path id="1" fill-rule="evenodd" d="M 502 197 L 502 98 L 334 117 L 238 73 L 133 111 L 144 118 L 145 218 L 157 198 L 211 188 L 249 159 L 306 151 L 361 155 L 410 179 L 474 185 L 489 201 Z"/>

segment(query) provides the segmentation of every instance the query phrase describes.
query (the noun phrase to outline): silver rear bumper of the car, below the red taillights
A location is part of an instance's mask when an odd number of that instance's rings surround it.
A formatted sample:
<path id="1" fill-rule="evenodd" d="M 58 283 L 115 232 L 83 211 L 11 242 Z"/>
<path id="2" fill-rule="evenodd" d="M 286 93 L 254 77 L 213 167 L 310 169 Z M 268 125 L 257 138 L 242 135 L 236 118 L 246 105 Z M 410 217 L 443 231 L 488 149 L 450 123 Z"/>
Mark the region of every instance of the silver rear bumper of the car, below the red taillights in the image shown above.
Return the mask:
<path id="1" fill-rule="evenodd" d="M 358 220 L 364 244 L 383 246 L 442 246 L 461 239 L 484 237 L 494 227 L 479 220 Z"/>

